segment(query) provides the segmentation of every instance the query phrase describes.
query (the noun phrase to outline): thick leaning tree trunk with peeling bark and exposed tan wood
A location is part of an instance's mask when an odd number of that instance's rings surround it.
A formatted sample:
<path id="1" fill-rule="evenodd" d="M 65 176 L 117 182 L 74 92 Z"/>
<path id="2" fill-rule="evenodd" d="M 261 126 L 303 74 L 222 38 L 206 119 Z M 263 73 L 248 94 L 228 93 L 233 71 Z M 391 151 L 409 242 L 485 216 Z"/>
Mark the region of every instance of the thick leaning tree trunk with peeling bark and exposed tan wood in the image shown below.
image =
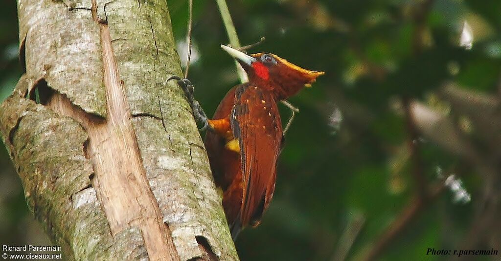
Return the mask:
<path id="1" fill-rule="evenodd" d="M 165 0 L 18 0 L 26 72 L 0 131 L 69 260 L 238 259 Z M 36 102 L 38 101 L 38 102 Z"/>

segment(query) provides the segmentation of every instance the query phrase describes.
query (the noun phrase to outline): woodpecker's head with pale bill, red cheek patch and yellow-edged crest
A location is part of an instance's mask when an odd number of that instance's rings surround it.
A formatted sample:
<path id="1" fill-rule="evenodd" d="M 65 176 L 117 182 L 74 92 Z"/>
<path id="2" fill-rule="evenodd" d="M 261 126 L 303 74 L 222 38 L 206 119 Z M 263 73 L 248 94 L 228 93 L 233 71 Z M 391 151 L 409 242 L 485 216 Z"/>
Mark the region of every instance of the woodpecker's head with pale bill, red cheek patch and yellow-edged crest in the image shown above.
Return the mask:
<path id="1" fill-rule="evenodd" d="M 311 87 L 323 71 L 307 70 L 288 62 L 273 53 L 245 54 L 221 44 L 243 67 L 249 82 L 274 92 L 279 99 L 298 93 L 303 87 Z"/>

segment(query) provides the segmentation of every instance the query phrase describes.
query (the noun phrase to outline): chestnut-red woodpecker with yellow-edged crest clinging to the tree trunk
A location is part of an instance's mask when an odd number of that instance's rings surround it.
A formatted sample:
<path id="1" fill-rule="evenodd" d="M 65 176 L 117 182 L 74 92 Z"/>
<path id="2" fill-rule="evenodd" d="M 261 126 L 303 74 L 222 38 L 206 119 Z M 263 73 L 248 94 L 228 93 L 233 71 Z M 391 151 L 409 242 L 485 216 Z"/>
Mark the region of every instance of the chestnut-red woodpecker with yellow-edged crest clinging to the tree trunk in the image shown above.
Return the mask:
<path id="1" fill-rule="evenodd" d="M 231 88 L 219 103 L 205 147 L 233 239 L 256 226 L 275 190 L 283 130 L 277 102 L 324 74 L 303 69 L 272 53 L 247 55 L 221 45 L 243 67 L 248 82 Z"/>

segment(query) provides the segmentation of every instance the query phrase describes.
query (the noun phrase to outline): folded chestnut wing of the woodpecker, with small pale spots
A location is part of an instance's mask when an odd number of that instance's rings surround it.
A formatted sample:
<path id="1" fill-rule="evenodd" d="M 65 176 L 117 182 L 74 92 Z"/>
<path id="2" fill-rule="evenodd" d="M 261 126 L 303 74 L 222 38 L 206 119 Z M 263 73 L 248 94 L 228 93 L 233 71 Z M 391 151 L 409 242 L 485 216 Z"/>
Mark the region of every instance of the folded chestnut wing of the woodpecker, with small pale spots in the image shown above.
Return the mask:
<path id="1" fill-rule="evenodd" d="M 257 225 L 273 196 L 282 142 L 282 123 L 273 95 L 257 86 L 240 85 L 230 122 L 240 147 L 241 224 Z"/>

